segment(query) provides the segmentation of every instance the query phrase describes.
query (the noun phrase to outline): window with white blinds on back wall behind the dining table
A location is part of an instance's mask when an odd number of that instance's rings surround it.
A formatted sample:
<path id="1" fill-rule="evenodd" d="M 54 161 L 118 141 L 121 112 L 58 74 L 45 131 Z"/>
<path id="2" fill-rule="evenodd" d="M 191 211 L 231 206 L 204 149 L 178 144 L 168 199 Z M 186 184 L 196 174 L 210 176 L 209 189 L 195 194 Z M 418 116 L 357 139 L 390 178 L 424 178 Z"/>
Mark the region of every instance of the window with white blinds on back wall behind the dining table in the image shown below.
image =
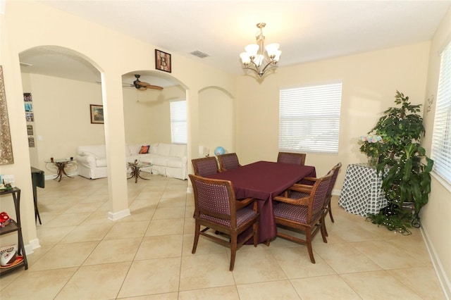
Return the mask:
<path id="1" fill-rule="evenodd" d="M 338 153 L 342 82 L 280 90 L 279 149 Z"/>

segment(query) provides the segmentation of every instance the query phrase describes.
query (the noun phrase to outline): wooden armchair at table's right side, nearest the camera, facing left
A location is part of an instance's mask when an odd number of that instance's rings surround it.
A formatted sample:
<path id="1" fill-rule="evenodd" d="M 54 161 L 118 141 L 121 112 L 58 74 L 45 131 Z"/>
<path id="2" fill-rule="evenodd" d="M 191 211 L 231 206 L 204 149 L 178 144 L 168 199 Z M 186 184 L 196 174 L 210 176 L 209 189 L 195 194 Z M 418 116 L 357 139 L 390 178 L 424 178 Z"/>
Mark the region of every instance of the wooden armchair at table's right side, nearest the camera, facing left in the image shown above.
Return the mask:
<path id="1" fill-rule="evenodd" d="M 326 176 L 316 178 L 314 185 L 307 186 L 305 190 L 302 185 L 290 187 L 295 192 L 304 192 L 301 198 L 297 198 L 294 192 L 289 196 L 274 197 L 273 211 L 276 224 L 305 232 L 305 239 L 288 235 L 280 230 L 277 236 L 299 244 L 307 244 L 311 263 L 315 263 L 311 241 L 319 231 L 323 242 L 327 243 L 323 206 L 332 176 L 333 171 L 330 170 Z M 266 244 L 269 244 L 269 241 Z"/>

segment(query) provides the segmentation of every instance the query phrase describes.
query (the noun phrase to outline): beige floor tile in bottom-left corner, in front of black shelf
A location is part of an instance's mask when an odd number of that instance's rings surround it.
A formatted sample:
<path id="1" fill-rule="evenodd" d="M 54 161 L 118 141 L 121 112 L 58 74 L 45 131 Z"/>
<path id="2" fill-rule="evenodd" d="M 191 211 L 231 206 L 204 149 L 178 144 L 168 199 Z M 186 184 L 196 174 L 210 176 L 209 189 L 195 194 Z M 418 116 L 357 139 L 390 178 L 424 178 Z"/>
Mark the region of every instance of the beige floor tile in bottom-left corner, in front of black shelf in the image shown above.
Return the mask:
<path id="1" fill-rule="evenodd" d="M 1 300 L 54 299 L 77 268 L 23 272 L 0 292 Z M 3 280 L 3 279 L 2 279 Z"/>

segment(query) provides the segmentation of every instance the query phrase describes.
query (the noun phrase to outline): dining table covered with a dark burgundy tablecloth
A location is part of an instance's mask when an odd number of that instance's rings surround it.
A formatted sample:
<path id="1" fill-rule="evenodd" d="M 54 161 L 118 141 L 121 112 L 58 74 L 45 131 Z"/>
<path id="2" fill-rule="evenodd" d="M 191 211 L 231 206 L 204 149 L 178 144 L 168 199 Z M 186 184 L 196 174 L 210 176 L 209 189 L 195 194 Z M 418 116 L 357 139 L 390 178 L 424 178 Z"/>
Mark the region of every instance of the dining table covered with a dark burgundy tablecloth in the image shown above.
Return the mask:
<path id="1" fill-rule="evenodd" d="M 277 236 L 273 198 L 304 177 L 316 177 L 316 170 L 310 165 L 257 161 L 205 177 L 232 182 L 236 199 L 252 197 L 258 200 L 259 243 L 265 243 Z"/>

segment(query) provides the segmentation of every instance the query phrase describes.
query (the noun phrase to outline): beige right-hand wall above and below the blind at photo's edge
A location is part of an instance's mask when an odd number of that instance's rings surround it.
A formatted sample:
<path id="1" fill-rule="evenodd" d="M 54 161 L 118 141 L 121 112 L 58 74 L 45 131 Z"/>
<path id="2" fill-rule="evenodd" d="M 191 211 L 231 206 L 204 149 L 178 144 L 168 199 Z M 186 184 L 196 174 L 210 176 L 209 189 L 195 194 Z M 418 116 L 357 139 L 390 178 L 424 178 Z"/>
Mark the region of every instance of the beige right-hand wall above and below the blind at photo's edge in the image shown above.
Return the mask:
<path id="1" fill-rule="evenodd" d="M 426 137 L 424 147 L 431 151 L 433 132 L 433 119 L 435 113 L 435 100 L 438 88 L 438 75 L 440 73 L 440 52 L 451 42 L 451 9 L 445 15 L 440 27 L 431 43 L 431 56 L 429 57 L 428 80 L 426 85 L 426 98 L 424 105 L 430 106 L 431 111 L 424 114 Z M 431 101 L 428 101 L 431 100 Z M 427 111 L 427 110 L 426 110 Z M 451 185 L 441 180 L 433 173 L 431 195 L 429 202 L 421 211 L 421 220 L 426 237 L 426 244 L 435 258 L 435 268 L 445 293 L 451 298 Z"/>

